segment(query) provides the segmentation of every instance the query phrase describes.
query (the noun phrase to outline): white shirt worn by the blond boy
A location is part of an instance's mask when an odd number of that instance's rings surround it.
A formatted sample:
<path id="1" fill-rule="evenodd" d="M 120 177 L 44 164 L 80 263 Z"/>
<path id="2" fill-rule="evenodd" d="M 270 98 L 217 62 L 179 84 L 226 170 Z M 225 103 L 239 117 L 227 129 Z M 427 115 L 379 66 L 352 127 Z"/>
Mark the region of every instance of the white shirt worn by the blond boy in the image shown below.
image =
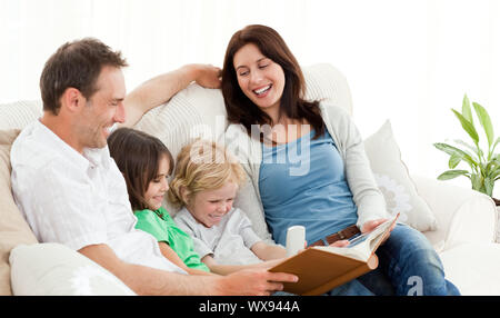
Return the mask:
<path id="1" fill-rule="evenodd" d="M 261 261 L 251 251 L 251 247 L 261 239 L 240 209 L 231 209 L 219 225 L 211 228 L 197 221 L 186 208 L 177 212 L 174 221 L 192 237 L 194 251 L 200 258 L 210 255 L 222 265 L 249 265 Z"/>

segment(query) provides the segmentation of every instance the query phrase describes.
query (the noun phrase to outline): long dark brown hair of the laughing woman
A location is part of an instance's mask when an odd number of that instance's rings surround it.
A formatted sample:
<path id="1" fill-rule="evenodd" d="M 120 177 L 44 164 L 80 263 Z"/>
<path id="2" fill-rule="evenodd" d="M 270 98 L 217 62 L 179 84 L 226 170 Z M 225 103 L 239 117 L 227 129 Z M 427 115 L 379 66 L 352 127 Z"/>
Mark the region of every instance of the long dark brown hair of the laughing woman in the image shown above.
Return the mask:
<path id="1" fill-rule="evenodd" d="M 284 89 L 280 111 L 292 119 L 307 119 L 314 128 L 318 138 L 324 132 L 319 101 L 307 101 L 306 80 L 296 58 L 281 36 L 272 28 L 252 24 L 236 32 L 229 41 L 222 69 L 222 95 L 224 97 L 228 121 L 241 123 L 251 135 L 252 125 L 270 125 L 272 119 L 259 109 L 241 90 L 234 70 L 234 54 L 246 44 L 256 44 L 261 53 L 281 66 L 284 72 Z"/>

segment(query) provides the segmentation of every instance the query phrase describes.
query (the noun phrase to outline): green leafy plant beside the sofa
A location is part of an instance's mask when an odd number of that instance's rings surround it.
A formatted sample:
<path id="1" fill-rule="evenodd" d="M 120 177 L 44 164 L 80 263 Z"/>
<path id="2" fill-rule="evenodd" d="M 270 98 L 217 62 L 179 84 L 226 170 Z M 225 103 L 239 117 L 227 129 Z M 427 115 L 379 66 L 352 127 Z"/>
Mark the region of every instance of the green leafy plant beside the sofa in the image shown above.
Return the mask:
<path id="1" fill-rule="evenodd" d="M 450 180 L 459 176 L 464 176 L 470 179 L 472 189 L 492 197 L 494 182 L 500 179 L 500 153 L 494 153 L 494 149 L 500 142 L 500 137 L 494 139 L 493 126 L 491 125 L 488 111 L 477 102 L 472 102 L 472 106 L 479 123 L 484 130 L 488 147 L 483 149 L 479 145 L 478 130 L 472 119 L 469 98 L 466 95 L 462 101 L 462 111 L 451 110 L 473 143 L 460 139 L 453 140 L 457 146 L 444 142 L 434 143 L 436 148 L 450 156 L 448 161 L 450 170 L 442 172 L 438 179 Z M 469 170 L 456 169 L 462 161 L 469 165 Z M 493 198 L 493 200 L 497 206 L 500 205 L 498 199 Z"/>

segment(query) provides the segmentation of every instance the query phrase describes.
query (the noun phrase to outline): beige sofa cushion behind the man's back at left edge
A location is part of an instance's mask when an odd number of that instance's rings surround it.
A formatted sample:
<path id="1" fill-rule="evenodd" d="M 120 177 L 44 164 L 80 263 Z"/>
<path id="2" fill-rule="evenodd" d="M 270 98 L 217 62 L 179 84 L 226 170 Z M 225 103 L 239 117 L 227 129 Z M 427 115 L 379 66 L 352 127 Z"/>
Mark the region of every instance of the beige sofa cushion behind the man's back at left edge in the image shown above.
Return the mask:
<path id="1" fill-rule="evenodd" d="M 37 239 L 12 198 L 10 148 L 18 129 L 0 130 L 0 295 L 11 295 L 9 254 L 20 244 Z"/>

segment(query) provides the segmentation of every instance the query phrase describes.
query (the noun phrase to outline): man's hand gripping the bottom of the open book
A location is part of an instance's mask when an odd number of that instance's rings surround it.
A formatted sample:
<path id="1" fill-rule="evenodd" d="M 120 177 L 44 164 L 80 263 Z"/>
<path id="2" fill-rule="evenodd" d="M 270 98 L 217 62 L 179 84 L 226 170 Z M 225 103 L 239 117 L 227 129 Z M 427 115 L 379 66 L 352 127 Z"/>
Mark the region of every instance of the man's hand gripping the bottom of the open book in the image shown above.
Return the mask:
<path id="1" fill-rule="evenodd" d="M 282 282 L 297 282 L 299 278 L 286 272 L 266 269 L 244 269 L 221 278 L 220 295 L 269 296 L 283 289 Z"/>

